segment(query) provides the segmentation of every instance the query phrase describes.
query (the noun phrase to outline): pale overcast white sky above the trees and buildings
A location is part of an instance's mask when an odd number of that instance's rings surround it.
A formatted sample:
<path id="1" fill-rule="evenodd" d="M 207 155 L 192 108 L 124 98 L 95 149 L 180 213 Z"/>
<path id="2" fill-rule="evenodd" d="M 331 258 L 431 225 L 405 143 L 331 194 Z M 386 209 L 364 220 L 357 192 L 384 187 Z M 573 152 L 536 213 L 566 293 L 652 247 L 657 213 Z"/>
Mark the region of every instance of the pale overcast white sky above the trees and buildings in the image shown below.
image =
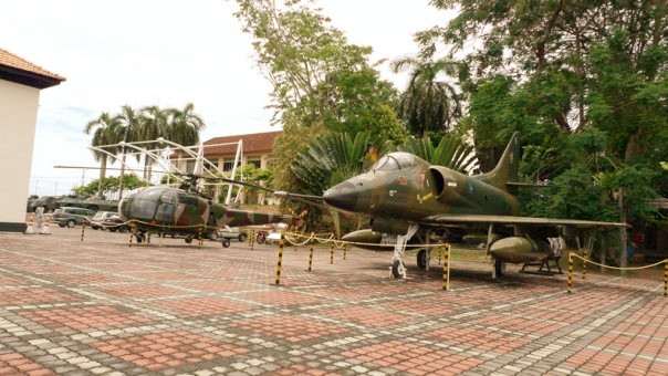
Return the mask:
<path id="1" fill-rule="evenodd" d="M 374 60 L 414 54 L 416 31 L 443 23 L 428 0 L 321 0 L 353 43 Z M 41 94 L 31 194 L 66 194 L 95 165 L 84 125 L 122 105 L 182 106 L 207 123 L 203 138 L 272 130 L 270 86 L 229 0 L 10 0 L 0 12 L 0 48 L 67 79 Z M 385 66 L 398 87 L 405 75 Z M 95 176 L 87 173 L 85 180 Z"/>

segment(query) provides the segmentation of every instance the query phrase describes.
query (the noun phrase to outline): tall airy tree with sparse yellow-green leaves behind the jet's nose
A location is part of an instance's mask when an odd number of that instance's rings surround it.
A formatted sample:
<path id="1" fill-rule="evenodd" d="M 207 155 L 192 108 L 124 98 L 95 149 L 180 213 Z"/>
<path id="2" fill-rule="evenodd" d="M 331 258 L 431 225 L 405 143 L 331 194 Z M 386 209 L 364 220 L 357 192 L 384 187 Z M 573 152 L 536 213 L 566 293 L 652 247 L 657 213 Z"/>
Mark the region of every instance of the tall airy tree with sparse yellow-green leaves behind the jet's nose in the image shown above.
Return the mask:
<path id="1" fill-rule="evenodd" d="M 368 132 L 378 147 L 406 138 L 394 112 L 397 93 L 368 63 L 370 48 L 349 43 L 310 1 L 237 3 L 236 15 L 273 87 L 273 121 L 283 125 L 274 148 L 276 187 L 300 187 L 290 166 L 321 134 Z"/>

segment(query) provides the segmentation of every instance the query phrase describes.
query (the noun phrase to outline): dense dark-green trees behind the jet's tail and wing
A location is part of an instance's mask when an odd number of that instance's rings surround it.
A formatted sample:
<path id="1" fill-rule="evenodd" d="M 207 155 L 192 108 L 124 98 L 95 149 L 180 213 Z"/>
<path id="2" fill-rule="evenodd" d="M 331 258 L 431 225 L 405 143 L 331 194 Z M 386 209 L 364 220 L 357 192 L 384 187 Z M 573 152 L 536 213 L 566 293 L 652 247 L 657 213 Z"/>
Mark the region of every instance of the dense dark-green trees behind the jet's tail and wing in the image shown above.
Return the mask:
<path id="1" fill-rule="evenodd" d="M 668 195 L 668 6 L 665 1 L 434 0 L 457 9 L 418 33 L 422 59 L 460 69 L 470 132 L 483 169 L 513 132 L 531 215 L 651 219 L 647 199 Z M 465 45 L 474 49 L 463 50 Z M 450 73 L 450 76 L 453 74 Z"/>

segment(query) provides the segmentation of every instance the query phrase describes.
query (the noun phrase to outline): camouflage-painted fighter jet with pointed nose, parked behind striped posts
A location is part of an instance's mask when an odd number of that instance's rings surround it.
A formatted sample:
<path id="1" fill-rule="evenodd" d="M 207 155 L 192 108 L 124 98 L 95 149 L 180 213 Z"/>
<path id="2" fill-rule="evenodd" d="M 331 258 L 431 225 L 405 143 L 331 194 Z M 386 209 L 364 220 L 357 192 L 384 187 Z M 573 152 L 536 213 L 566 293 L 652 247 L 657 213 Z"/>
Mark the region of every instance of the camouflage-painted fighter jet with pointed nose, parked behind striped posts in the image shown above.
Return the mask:
<path id="1" fill-rule="evenodd" d="M 338 210 L 368 215 L 370 228 L 343 237 L 378 249 L 384 239 L 396 237 L 392 275 L 405 278 L 406 248 L 430 241 L 448 242 L 466 233 L 488 233 L 487 250 L 494 263 L 493 276 L 504 263 L 543 260 L 554 249 L 561 230 L 592 230 L 626 227 L 626 223 L 519 216 L 516 186 L 518 134 L 510 139 L 494 169 L 467 176 L 443 166 L 430 165 L 409 153 L 390 153 L 368 171 L 347 179 L 323 195 L 324 202 Z M 554 238 L 551 238 L 554 237 Z M 563 241 L 557 242 L 562 244 Z M 560 247 L 560 246 L 557 246 Z M 428 268 L 430 249 L 417 254 L 420 268 Z"/>

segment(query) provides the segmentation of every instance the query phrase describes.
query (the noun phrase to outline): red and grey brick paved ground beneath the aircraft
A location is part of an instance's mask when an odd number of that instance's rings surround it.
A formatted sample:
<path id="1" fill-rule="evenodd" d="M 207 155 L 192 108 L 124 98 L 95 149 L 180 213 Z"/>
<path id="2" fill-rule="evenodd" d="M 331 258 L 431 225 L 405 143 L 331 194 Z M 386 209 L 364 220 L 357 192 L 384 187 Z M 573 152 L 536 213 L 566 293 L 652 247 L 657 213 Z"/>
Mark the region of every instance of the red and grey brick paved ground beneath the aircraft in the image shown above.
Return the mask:
<path id="1" fill-rule="evenodd" d="M 456 261 L 443 292 L 438 269 L 388 280 L 387 253 L 319 250 L 306 273 L 302 248 L 276 288 L 275 248 L 80 233 L 0 234 L 0 375 L 668 374 L 659 281 L 567 295 Z"/>

